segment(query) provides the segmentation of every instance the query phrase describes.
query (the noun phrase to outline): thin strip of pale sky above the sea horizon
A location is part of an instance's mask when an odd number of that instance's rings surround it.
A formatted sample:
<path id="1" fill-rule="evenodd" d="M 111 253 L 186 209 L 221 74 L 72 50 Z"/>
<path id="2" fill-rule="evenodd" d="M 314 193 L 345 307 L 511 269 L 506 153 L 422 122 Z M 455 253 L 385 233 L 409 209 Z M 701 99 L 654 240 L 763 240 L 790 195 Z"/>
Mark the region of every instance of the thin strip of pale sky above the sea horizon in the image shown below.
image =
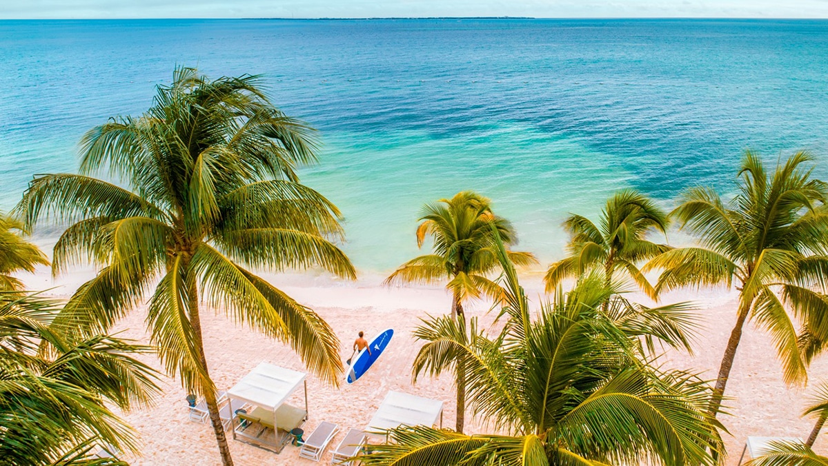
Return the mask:
<path id="1" fill-rule="evenodd" d="M 0 0 L 0 19 L 496 16 L 826 18 L 828 0 Z"/>

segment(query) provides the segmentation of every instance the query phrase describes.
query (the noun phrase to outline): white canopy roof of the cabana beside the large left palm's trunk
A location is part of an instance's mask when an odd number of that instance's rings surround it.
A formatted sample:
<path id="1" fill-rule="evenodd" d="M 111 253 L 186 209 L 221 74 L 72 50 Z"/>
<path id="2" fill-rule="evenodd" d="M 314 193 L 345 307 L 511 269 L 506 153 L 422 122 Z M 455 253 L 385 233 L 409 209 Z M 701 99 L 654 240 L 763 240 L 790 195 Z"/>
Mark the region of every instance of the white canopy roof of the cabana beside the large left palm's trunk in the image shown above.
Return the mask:
<path id="1" fill-rule="evenodd" d="M 302 372 L 260 363 L 229 389 L 227 395 L 268 410 L 275 410 L 301 386 L 302 382 L 305 382 L 306 376 L 307 374 Z"/>

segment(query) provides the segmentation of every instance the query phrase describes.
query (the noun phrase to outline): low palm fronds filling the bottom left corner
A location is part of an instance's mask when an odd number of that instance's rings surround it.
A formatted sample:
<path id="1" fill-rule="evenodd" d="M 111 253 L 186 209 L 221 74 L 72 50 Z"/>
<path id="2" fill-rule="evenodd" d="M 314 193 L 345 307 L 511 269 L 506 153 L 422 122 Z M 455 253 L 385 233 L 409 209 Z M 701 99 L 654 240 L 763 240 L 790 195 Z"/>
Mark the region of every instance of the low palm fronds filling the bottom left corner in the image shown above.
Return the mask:
<path id="1" fill-rule="evenodd" d="M 136 451 L 107 404 L 128 411 L 159 391 L 156 372 L 132 357 L 150 348 L 109 335 L 74 339 L 52 325 L 59 310 L 55 300 L 0 291 L 0 464 L 95 464 L 78 453 L 97 441 Z"/>

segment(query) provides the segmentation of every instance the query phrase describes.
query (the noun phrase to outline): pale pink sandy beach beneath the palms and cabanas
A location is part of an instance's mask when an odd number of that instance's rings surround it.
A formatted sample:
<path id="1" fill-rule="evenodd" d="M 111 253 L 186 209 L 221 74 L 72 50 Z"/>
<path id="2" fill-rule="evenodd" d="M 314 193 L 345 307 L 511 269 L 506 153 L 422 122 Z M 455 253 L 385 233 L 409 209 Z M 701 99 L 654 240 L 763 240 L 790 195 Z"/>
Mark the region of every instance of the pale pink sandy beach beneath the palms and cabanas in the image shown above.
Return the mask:
<path id="1" fill-rule="evenodd" d="M 67 295 L 81 283 L 88 271 L 52 281 L 48 271 L 39 271 L 26 278 L 31 289 L 55 286 L 55 295 Z M 423 378 L 412 385 L 411 366 L 419 344 L 412 339 L 412 329 L 426 314 L 445 314 L 449 297 L 440 288 L 392 288 L 379 286 L 379 277 L 363 277 L 357 282 L 332 281 L 325 276 L 267 276 L 275 285 L 301 303 L 322 315 L 339 334 L 343 359 L 351 354 L 355 334 L 363 330 L 368 338 L 387 328 L 395 336 L 386 353 L 359 382 L 330 387 L 310 375 L 308 377 L 309 419 L 305 430 L 310 432 L 322 420 L 339 424 L 342 432 L 331 443 L 335 445 L 349 427 L 363 428 L 373 416 L 386 392 L 396 390 L 445 401 L 444 423 L 454 427 L 455 403 L 451 377 L 438 380 Z M 527 294 L 539 295 L 537 278 L 523 281 Z M 634 296 L 638 298 L 638 296 Z M 696 342 L 696 354 L 668 352 L 667 365 L 704 372 L 715 377 L 724 345 L 734 323 L 736 296 L 726 291 L 682 291 L 664 297 L 662 302 L 696 301 L 705 325 L 705 332 Z M 644 302 L 642 298 L 640 302 Z M 490 324 L 489 305 L 478 303 L 469 307 L 469 314 L 479 315 L 483 324 Z M 218 387 L 229 388 L 258 363 L 267 362 L 304 372 L 300 359 L 286 345 L 267 339 L 250 329 L 233 324 L 221 313 L 205 312 L 203 317 L 205 345 L 210 373 Z M 147 341 L 144 314 L 136 310 L 118 324 L 123 336 Z M 730 435 L 725 436 L 729 457 L 726 464 L 737 464 L 748 435 L 798 436 L 806 438 L 812 420 L 802 419 L 807 391 L 788 388 L 782 382 L 779 363 L 774 358 L 770 340 L 749 325 L 744 333 L 727 388 L 731 416 L 722 418 Z M 157 361 L 152 365 L 161 369 Z M 811 381 L 828 376 L 828 360 L 817 359 L 811 366 Z M 146 411 L 125 415 L 142 441 L 142 456 L 129 458 L 142 464 L 220 464 L 212 428 L 191 422 L 187 417 L 186 393 L 177 380 L 162 380 L 164 394 L 156 406 Z M 301 391 L 294 404 L 301 404 Z M 484 431 L 479 420 L 469 419 L 467 433 Z M 816 450 L 825 454 L 828 441 L 817 440 Z M 282 454 L 272 454 L 238 441 L 230 441 L 236 464 L 312 464 L 299 459 L 298 449 L 287 446 Z M 330 462 L 330 450 L 323 458 Z"/>

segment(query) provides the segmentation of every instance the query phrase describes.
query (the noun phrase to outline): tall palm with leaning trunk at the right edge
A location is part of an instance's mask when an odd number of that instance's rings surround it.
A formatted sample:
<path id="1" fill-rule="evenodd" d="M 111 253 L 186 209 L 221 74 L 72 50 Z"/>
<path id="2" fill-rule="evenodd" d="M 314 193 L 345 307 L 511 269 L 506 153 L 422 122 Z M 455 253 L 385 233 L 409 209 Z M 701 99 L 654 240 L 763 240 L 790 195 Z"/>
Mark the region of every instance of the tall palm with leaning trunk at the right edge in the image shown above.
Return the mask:
<path id="1" fill-rule="evenodd" d="M 803 167 L 812 160 L 799 152 L 768 174 L 759 157 L 748 151 L 733 199 L 725 203 L 715 190 L 692 188 L 672 211 L 701 246 L 662 252 L 643 267 L 663 270 L 657 292 L 681 286 L 739 290 L 736 324 L 710 402 L 712 416 L 719 411 L 749 317 L 771 335 L 787 383 L 806 380 L 809 357 L 799 343 L 826 341 L 828 301 L 820 291 L 828 281 L 828 188 Z M 797 335 L 788 309 L 802 320 L 805 334 Z"/>

